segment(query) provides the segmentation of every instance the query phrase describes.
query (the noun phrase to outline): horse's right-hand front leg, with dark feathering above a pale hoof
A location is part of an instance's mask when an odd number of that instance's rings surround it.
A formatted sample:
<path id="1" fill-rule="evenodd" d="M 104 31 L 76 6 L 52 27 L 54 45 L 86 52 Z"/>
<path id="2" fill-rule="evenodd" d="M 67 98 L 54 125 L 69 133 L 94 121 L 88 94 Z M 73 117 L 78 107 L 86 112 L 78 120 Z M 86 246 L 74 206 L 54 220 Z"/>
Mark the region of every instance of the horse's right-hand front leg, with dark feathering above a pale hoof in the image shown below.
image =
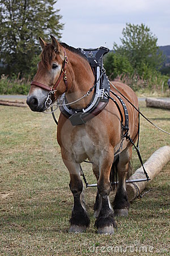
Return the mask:
<path id="1" fill-rule="evenodd" d="M 109 193 L 111 192 L 111 183 L 109 180 L 113 154 L 111 158 L 103 158 L 100 166 L 100 176 L 97 182 L 98 196 L 101 197 L 101 209 L 99 216 L 95 221 L 95 226 L 99 234 L 114 234 L 116 223 L 114 221 L 114 213 L 109 202 Z M 99 200 L 99 199 L 98 199 Z"/>

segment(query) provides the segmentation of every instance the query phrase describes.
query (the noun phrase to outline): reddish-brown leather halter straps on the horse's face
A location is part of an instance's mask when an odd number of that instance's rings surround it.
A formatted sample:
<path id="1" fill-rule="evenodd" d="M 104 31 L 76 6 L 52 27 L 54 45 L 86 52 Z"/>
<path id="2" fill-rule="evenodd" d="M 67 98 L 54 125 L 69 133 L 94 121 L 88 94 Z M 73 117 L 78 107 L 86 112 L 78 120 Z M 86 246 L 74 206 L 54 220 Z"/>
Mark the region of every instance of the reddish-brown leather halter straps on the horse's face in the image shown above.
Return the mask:
<path id="1" fill-rule="evenodd" d="M 67 63 L 68 63 L 68 57 L 66 56 L 66 51 L 64 49 L 64 60 L 63 60 L 63 64 L 62 64 L 62 69 L 61 69 L 61 73 L 60 73 L 60 75 L 59 75 L 59 77 L 57 79 L 56 84 L 54 84 L 53 87 L 49 87 L 48 85 L 41 84 L 40 82 L 32 81 L 31 85 L 36 85 L 36 86 L 39 86 L 42 89 L 52 91 L 52 90 L 56 90 L 57 89 L 57 86 L 58 86 L 59 82 L 63 78 L 63 80 L 65 82 L 65 85 L 66 85 L 66 89 L 67 89 L 67 87 L 68 87 L 67 86 L 67 74 L 66 74 L 66 64 Z"/>

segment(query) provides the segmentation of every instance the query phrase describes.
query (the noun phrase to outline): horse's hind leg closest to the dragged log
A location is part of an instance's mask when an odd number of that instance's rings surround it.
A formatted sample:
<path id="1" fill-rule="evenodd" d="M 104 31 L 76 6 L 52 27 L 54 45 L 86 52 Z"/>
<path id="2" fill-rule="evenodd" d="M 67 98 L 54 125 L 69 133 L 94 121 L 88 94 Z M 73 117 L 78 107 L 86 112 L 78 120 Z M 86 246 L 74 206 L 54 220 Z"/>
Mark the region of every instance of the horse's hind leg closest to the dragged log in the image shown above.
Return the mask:
<path id="1" fill-rule="evenodd" d="M 126 176 L 131 167 L 131 155 L 132 148 L 125 148 L 125 150 L 120 153 L 119 161 L 117 163 L 118 188 L 113 202 L 114 214 L 117 216 L 128 216 L 130 204 L 126 192 Z"/>

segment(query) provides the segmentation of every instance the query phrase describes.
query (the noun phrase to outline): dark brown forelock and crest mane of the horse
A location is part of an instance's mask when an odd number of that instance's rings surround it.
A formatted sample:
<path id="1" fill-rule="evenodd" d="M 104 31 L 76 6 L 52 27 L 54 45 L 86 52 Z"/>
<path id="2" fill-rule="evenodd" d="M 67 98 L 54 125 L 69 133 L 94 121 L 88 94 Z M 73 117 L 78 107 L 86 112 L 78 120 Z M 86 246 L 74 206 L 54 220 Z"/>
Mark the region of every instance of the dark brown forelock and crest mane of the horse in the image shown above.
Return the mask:
<path id="1" fill-rule="evenodd" d="M 74 52 L 87 60 L 86 56 L 83 55 L 83 53 L 81 53 L 78 49 L 76 49 L 72 46 L 68 46 L 68 44 L 66 44 L 66 43 L 59 43 L 59 44 L 62 47 L 69 49 L 69 51 Z M 51 64 L 53 58 L 55 57 L 55 54 L 56 53 L 54 52 L 54 47 L 52 46 L 52 44 L 46 44 L 46 46 L 44 47 L 44 49 L 41 52 L 41 61 L 42 61 L 42 64 L 45 66 L 45 68 L 50 69 L 50 64 Z"/>

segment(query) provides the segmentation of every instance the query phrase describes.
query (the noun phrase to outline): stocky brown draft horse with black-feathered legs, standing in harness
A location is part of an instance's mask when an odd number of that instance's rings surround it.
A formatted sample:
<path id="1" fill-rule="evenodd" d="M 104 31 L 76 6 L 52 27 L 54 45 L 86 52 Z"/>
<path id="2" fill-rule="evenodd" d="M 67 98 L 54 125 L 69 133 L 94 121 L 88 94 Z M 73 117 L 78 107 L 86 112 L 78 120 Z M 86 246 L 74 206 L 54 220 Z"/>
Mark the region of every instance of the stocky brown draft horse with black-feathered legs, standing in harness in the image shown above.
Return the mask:
<path id="1" fill-rule="evenodd" d="M 27 97 L 27 104 L 36 112 L 46 109 L 45 100 L 50 89 L 57 87 L 55 98 L 65 93 L 67 102 L 73 102 L 86 94 L 95 81 L 90 64 L 78 50 L 66 44 L 59 44 L 53 36 L 51 38 L 52 43 L 46 43 L 39 38 L 42 47 L 41 61 Z M 64 69 L 63 63 L 66 64 Z M 113 84 L 138 108 L 137 96 L 128 85 L 120 82 Z M 113 92 L 117 93 L 114 88 Z M 71 107 L 85 108 L 90 103 L 92 94 L 93 92 Z M 117 100 L 116 97 L 113 98 Z M 138 113 L 128 101 L 125 100 L 125 104 L 129 113 L 129 135 L 135 142 L 138 134 Z M 120 102 L 118 105 L 123 112 Z M 57 141 L 61 147 L 63 163 L 70 173 L 69 185 L 74 196 L 70 232 L 83 232 L 90 224 L 82 196 L 83 183 L 79 166 L 86 159 L 93 162 L 92 170 L 97 179 L 94 210 L 98 233 L 113 234 L 116 226 L 114 214 L 128 215 L 129 202 L 125 180 L 130 168 L 132 144 L 126 139 L 116 161 L 119 183 L 113 203 L 114 212 L 109 203 L 109 193 L 112 189 L 109 175 L 112 164 L 115 163 L 114 152 L 121 142 L 120 119 L 120 112 L 111 100 L 100 114 L 83 125 L 73 126 L 62 113 L 59 115 Z"/>

